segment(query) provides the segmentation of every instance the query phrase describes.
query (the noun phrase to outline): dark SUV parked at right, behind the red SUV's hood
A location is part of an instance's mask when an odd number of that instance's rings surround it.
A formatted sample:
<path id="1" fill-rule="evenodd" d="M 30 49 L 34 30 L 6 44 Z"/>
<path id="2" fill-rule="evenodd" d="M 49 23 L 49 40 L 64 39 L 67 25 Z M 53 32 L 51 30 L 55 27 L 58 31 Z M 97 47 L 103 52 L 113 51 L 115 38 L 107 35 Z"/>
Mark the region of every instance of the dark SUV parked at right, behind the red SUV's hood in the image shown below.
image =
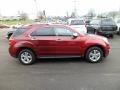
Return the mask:
<path id="1" fill-rule="evenodd" d="M 88 33 L 92 32 L 98 35 L 106 35 L 113 37 L 117 32 L 116 23 L 109 18 L 94 19 L 87 26 Z"/>

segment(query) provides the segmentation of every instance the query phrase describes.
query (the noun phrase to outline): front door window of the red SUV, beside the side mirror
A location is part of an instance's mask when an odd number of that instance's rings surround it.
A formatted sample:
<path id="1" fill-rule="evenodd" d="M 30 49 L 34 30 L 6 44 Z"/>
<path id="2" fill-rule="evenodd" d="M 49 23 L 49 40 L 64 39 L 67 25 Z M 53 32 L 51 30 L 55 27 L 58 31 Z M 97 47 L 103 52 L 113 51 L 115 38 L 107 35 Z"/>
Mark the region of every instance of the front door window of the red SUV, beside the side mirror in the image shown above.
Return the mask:
<path id="1" fill-rule="evenodd" d="M 72 36 L 73 35 L 73 32 L 71 30 L 64 28 L 64 27 L 55 27 L 54 30 L 57 36 Z"/>

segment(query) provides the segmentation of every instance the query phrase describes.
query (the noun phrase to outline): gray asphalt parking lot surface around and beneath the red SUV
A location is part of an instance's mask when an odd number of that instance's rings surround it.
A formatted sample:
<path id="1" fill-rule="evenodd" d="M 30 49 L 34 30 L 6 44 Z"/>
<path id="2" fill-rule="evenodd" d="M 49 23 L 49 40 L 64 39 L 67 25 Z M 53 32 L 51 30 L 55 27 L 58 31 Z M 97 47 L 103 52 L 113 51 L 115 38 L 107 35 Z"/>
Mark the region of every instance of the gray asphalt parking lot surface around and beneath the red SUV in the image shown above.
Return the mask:
<path id="1" fill-rule="evenodd" d="M 120 36 L 96 64 L 76 59 L 42 59 L 21 65 L 8 53 L 7 30 L 0 30 L 0 90 L 120 90 Z"/>

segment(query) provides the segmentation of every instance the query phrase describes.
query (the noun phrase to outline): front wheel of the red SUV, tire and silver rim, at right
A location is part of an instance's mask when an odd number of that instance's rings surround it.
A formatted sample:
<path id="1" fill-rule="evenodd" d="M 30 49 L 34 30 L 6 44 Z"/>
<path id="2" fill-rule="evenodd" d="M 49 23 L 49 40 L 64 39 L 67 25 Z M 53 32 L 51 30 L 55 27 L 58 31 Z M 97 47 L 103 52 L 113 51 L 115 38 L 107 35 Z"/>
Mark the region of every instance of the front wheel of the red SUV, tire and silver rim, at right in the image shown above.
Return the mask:
<path id="1" fill-rule="evenodd" d="M 85 58 L 91 63 L 100 62 L 103 59 L 103 51 L 99 47 L 91 47 L 87 50 Z"/>

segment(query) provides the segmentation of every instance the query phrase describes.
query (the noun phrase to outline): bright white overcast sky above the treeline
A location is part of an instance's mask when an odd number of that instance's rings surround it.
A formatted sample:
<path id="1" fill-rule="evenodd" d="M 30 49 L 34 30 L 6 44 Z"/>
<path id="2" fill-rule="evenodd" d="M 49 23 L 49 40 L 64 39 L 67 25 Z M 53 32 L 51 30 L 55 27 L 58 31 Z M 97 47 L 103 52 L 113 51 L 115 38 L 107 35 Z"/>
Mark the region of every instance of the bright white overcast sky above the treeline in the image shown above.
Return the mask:
<path id="1" fill-rule="evenodd" d="M 49 16 L 64 16 L 68 11 L 73 11 L 74 0 L 36 0 L 38 10 L 46 10 Z M 96 13 L 119 10 L 120 0 L 77 0 L 77 11 L 84 15 L 90 9 Z M 35 16 L 36 7 L 34 0 L 0 0 L 0 13 L 5 16 L 17 15 L 18 11 L 27 12 Z"/>

